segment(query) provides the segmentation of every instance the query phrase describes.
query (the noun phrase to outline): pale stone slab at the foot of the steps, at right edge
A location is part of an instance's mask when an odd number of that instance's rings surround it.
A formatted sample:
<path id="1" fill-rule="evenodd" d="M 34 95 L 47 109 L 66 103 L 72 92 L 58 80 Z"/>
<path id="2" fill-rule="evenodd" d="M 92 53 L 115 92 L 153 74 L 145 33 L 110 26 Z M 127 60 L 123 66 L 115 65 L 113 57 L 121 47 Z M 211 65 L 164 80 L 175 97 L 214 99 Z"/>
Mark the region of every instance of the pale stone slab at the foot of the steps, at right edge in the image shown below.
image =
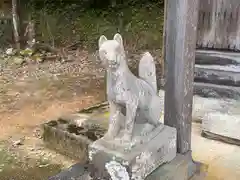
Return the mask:
<path id="1" fill-rule="evenodd" d="M 207 113 L 202 121 L 202 131 L 214 139 L 238 144 L 240 141 L 240 112 L 229 114 L 221 112 Z M 203 134 L 204 135 L 204 134 Z M 208 137 L 208 136 L 207 136 Z"/>

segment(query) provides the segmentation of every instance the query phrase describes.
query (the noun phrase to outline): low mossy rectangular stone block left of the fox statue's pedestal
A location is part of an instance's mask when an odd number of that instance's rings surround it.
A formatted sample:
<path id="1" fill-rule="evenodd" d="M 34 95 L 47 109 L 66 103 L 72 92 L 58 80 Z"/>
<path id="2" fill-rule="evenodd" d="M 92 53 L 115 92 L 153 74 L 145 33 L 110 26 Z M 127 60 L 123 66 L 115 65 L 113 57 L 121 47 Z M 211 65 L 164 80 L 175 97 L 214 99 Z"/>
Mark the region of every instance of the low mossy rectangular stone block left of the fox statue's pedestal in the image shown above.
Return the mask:
<path id="1" fill-rule="evenodd" d="M 105 134 L 105 129 L 86 122 L 81 126 L 73 121 L 58 119 L 42 125 L 43 140 L 49 149 L 80 162 L 88 160 L 88 146 Z"/>

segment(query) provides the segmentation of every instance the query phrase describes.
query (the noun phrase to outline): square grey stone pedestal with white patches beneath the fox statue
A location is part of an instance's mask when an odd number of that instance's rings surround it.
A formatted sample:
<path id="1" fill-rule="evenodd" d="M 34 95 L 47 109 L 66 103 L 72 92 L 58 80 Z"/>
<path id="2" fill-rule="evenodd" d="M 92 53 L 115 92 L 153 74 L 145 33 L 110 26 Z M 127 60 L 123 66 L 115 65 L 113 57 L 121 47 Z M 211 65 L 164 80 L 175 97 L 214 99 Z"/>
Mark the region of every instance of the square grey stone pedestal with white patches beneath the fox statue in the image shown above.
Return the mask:
<path id="1" fill-rule="evenodd" d="M 95 176 L 113 179 L 118 176 L 144 179 L 160 165 L 170 162 L 176 156 L 176 129 L 168 126 L 156 128 L 151 138 L 142 144 L 129 146 L 101 138 L 89 146 L 89 159 L 96 168 Z M 149 136 L 149 135 L 148 135 Z M 116 170 L 121 169 L 121 170 Z"/>

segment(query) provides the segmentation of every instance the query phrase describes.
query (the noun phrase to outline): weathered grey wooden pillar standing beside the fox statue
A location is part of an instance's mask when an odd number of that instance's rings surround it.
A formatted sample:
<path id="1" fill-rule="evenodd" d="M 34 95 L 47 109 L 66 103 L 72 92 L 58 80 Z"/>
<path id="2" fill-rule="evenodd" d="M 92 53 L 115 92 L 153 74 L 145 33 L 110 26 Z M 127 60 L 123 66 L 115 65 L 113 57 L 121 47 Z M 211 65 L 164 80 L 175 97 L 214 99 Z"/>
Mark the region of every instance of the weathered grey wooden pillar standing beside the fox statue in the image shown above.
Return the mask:
<path id="1" fill-rule="evenodd" d="M 198 0 L 167 0 L 165 117 L 177 129 L 177 151 L 191 150 L 193 78 Z"/>

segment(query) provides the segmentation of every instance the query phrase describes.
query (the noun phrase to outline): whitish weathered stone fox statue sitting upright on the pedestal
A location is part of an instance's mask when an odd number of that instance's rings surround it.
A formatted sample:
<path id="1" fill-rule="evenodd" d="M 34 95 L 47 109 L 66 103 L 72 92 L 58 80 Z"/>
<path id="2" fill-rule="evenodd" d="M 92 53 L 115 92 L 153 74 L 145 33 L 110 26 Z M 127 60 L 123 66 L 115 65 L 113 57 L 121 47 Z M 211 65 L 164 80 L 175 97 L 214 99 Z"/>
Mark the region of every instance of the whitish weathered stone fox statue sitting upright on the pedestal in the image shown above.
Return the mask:
<path id="1" fill-rule="evenodd" d="M 128 68 L 120 34 L 115 34 L 113 40 L 102 35 L 98 44 L 99 57 L 107 71 L 110 106 L 109 128 L 104 137 L 114 139 L 123 130 L 120 138 L 131 141 L 135 124 L 148 123 L 152 127 L 161 124 L 161 99 L 157 95 L 153 57 L 149 52 L 143 55 L 136 77 Z"/>

